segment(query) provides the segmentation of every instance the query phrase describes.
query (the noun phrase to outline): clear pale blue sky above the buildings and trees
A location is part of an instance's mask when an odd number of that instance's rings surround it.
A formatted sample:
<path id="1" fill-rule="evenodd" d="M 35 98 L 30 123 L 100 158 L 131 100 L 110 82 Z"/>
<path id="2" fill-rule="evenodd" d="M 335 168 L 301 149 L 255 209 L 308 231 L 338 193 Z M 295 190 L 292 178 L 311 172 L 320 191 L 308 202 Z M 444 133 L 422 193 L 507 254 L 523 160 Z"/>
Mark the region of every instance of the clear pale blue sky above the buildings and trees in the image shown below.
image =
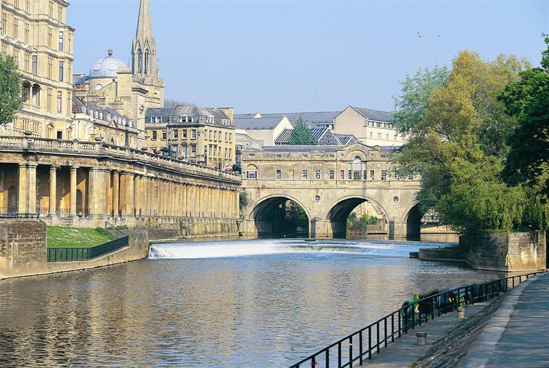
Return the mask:
<path id="1" fill-rule="evenodd" d="M 236 112 L 393 110 L 399 81 L 461 49 L 539 64 L 549 1 L 150 0 L 165 97 Z M 75 72 L 128 61 L 139 0 L 73 0 Z M 421 32 L 422 37 L 417 37 Z M 441 35 L 441 37 L 437 37 Z"/>

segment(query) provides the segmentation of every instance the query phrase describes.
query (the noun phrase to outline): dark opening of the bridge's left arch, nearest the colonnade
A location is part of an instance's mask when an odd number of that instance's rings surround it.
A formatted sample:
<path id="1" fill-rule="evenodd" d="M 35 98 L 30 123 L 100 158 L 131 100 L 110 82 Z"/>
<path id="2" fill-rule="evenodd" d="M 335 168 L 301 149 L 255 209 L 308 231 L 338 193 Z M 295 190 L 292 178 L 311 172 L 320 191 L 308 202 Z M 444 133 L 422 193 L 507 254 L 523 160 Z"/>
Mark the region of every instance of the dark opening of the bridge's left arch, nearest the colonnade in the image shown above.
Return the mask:
<path id="1" fill-rule="evenodd" d="M 309 236 L 309 214 L 289 197 L 260 201 L 250 214 L 259 236 Z"/>

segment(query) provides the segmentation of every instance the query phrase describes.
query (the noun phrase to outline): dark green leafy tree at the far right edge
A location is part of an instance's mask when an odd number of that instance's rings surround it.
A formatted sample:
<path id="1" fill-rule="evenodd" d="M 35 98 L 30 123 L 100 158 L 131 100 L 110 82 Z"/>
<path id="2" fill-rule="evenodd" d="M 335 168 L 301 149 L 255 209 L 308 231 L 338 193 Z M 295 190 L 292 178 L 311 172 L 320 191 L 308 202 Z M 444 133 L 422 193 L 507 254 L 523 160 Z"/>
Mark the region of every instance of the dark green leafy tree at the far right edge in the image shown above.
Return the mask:
<path id="1" fill-rule="evenodd" d="M 549 36 L 542 51 L 541 67 L 520 73 L 520 79 L 500 95 L 506 112 L 516 119 L 509 134 L 509 156 L 503 171 L 511 185 L 526 183 L 549 195 Z"/>

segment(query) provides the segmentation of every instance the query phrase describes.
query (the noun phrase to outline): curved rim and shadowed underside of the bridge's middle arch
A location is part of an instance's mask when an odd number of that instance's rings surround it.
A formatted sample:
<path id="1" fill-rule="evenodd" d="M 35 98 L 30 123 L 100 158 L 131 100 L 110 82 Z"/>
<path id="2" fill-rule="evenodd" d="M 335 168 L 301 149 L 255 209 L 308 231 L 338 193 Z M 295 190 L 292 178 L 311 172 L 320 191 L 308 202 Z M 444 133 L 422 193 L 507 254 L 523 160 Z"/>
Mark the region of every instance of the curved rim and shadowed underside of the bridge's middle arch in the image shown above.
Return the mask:
<path id="1" fill-rule="evenodd" d="M 342 197 L 332 202 L 323 216 L 324 221 L 329 223 L 334 238 L 344 238 L 347 236 L 347 219 L 349 218 L 349 214 L 364 202 L 370 202 L 373 206 L 377 206 L 383 212 L 385 223 L 387 223 L 390 217 L 385 208 L 375 199 L 364 195 Z"/>

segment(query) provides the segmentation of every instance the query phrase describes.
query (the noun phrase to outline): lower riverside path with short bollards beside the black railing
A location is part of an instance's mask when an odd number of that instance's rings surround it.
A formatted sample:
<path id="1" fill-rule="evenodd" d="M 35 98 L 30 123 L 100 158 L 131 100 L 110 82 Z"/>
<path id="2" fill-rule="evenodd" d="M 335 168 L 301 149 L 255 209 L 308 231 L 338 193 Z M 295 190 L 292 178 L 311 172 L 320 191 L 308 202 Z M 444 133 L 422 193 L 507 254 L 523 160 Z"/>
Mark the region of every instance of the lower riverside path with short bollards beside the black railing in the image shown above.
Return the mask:
<path id="1" fill-rule="evenodd" d="M 474 315 L 489 303 L 478 303 L 465 308 L 465 317 Z M 403 334 L 401 339 L 395 339 L 387 348 L 382 348 L 379 354 L 372 354 L 372 360 L 366 360 L 362 367 L 375 368 L 408 368 L 412 363 L 425 354 L 431 345 L 441 339 L 449 328 L 459 323 L 458 312 L 437 317 L 429 323 L 423 323 L 420 328 Z M 427 332 L 427 345 L 417 345 L 416 332 Z M 357 367 L 353 365 L 353 367 Z M 360 367 L 360 366 L 359 366 Z"/>

